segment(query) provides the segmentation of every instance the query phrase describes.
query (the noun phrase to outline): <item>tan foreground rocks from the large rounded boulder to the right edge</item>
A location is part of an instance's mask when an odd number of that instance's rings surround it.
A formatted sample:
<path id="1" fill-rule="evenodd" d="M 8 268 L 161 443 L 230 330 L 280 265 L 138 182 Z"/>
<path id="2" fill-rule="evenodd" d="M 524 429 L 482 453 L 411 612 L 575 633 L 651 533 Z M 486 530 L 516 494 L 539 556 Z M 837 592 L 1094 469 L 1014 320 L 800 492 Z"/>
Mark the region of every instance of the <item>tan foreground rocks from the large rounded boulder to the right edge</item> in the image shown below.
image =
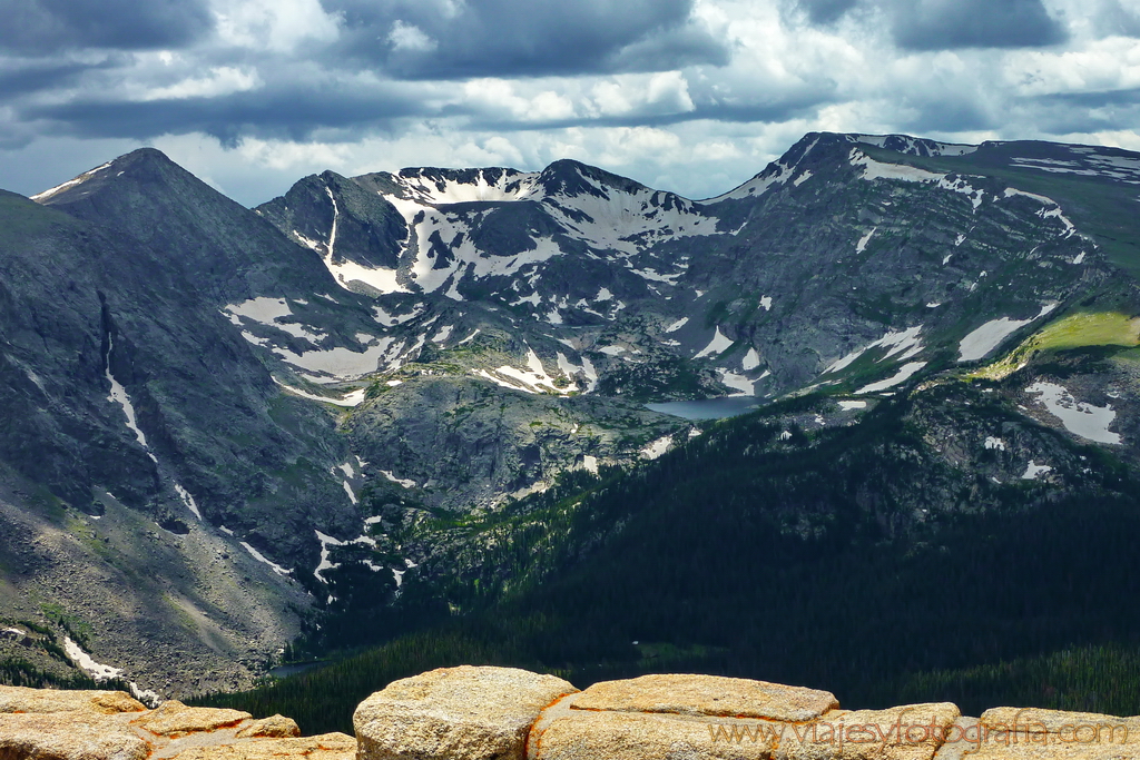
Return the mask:
<path id="1" fill-rule="evenodd" d="M 1138 757 L 1140 718 L 950 703 L 841 710 L 828 692 L 643 676 L 578 692 L 549 676 L 448 668 L 357 710 L 359 760 L 1034 760 Z"/>

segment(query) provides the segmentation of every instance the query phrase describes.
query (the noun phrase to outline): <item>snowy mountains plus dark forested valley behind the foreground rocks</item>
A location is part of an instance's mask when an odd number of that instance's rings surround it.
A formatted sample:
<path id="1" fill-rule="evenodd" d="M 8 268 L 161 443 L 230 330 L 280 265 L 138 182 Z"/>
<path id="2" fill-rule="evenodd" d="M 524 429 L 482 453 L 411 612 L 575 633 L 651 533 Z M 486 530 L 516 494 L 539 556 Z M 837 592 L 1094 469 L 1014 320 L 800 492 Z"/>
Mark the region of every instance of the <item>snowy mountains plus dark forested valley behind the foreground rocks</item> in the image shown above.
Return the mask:
<path id="1" fill-rule="evenodd" d="M 182 697 L 438 634 L 886 703 L 888 652 L 1132 646 L 1138 201 L 1116 148 L 833 133 L 705 201 L 559 161 L 250 210 L 149 148 L 2 193 L 0 672 Z"/>

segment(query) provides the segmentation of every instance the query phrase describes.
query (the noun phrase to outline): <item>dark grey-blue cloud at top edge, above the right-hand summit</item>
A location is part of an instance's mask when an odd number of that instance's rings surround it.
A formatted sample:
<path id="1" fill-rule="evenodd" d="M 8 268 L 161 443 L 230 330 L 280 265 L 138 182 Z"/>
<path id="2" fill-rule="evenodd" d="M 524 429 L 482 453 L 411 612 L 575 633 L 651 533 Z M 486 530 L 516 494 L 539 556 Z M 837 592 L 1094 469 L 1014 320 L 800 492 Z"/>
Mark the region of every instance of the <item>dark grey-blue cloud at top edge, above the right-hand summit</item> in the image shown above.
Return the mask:
<path id="1" fill-rule="evenodd" d="M 906 50 L 1036 48 L 1068 39 L 1041 0 L 797 0 L 796 7 L 817 26 L 850 11 L 879 10 Z M 1115 23 L 1126 26 L 1133 17 L 1118 5 L 1116 10 Z"/>

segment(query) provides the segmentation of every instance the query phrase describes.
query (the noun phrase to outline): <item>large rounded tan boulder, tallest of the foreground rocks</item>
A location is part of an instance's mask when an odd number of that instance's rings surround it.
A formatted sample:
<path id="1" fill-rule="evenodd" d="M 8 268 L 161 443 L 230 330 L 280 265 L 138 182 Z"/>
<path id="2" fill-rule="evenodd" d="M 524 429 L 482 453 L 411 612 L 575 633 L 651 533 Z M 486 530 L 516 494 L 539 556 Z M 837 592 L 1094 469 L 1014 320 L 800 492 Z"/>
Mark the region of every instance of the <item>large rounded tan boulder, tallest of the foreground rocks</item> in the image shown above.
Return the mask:
<path id="1" fill-rule="evenodd" d="M 577 692 L 514 668 L 441 668 L 393 681 L 352 718 L 359 760 L 523 760 L 543 709 Z"/>

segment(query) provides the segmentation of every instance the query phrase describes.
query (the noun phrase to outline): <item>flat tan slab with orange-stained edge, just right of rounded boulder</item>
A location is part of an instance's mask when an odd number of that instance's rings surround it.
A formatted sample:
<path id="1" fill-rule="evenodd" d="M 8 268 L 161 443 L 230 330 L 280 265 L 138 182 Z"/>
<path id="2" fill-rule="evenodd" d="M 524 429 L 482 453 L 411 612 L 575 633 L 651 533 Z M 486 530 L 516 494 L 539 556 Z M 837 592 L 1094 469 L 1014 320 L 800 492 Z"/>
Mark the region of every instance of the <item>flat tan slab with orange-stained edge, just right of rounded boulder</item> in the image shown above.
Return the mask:
<path id="1" fill-rule="evenodd" d="M 723 676 L 661 675 L 594 684 L 571 709 L 803 722 L 838 706 L 830 692 L 799 686 Z"/>

